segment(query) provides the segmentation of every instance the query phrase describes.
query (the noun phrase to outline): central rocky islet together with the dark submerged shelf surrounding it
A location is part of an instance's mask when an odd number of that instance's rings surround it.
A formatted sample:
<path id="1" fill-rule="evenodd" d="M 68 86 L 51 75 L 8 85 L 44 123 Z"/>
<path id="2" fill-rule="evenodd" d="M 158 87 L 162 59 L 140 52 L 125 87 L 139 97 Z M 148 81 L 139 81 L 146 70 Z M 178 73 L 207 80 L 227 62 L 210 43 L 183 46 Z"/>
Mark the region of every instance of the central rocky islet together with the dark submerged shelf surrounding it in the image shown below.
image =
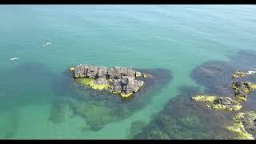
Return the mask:
<path id="1" fill-rule="evenodd" d="M 52 88 L 61 97 L 54 100 L 49 120 L 57 124 L 78 117 L 85 122 L 79 125 L 82 132 L 102 130 L 142 110 L 171 80 L 172 72 L 159 68 L 73 65 L 54 76 Z"/>

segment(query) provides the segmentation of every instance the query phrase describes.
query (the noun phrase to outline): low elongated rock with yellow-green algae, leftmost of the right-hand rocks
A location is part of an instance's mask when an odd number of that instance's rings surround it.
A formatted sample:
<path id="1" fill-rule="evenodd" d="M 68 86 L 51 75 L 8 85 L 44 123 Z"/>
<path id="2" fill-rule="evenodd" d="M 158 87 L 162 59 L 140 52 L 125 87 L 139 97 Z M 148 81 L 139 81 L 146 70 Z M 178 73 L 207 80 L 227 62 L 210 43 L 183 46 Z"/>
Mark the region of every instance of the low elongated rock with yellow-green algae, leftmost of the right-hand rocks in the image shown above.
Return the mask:
<path id="1" fill-rule="evenodd" d="M 213 95 L 196 95 L 192 97 L 196 102 L 210 102 L 212 105 L 206 105 L 211 109 L 218 110 L 241 110 L 242 106 L 239 102 L 229 98 L 229 97 L 220 97 Z"/>

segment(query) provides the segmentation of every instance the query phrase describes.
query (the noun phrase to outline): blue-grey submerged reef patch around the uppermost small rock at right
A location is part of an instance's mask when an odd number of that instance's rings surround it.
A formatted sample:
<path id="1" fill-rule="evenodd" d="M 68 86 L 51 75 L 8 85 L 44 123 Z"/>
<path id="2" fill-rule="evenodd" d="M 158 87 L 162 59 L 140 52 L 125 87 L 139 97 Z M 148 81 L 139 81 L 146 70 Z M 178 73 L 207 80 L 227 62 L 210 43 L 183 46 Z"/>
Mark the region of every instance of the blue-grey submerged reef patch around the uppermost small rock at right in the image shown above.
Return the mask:
<path id="1" fill-rule="evenodd" d="M 226 62 L 204 62 L 191 71 L 190 77 L 198 84 L 205 86 L 206 94 L 225 95 L 232 98 L 234 88 L 230 83 L 234 82 L 234 78 L 236 81 L 256 82 L 255 55 L 255 51 L 241 50 L 238 54 L 231 54 L 230 60 Z M 230 75 L 234 75 L 233 78 Z"/>

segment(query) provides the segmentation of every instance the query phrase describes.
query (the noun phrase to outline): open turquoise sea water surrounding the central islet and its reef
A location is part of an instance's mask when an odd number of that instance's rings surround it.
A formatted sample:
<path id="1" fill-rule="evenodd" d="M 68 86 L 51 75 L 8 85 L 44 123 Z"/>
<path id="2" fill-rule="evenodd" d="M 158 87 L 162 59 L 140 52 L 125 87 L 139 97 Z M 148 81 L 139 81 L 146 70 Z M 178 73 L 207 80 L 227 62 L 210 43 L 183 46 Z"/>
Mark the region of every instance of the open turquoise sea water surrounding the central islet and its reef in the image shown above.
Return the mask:
<path id="1" fill-rule="evenodd" d="M 246 5 L 0 6 L 0 138 L 128 138 L 131 122 L 197 85 L 195 66 L 255 50 L 255 34 L 256 7 Z M 164 68 L 173 79 L 129 118 L 81 131 L 82 118 L 48 119 L 61 94 L 54 78 L 80 63 Z"/>

